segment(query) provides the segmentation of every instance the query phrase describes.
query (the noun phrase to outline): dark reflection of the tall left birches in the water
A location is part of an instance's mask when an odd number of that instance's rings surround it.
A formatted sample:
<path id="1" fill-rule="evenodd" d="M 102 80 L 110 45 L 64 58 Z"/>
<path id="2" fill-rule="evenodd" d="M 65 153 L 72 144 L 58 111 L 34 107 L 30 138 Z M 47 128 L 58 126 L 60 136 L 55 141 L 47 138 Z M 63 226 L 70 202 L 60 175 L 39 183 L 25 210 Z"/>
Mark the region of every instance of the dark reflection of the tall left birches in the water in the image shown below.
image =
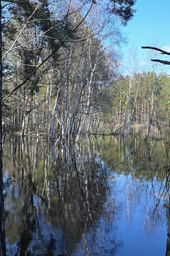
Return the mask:
<path id="1" fill-rule="evenodd" d="M 8 255 L 76 255 L 77 248 L 81 255 L 115 255 L 121 242 L 114 235 L 106 248 L 106 227 L 95 226 L 105 211 L 108 186 L 93 141 L 18 138 L 17 147 L 10 141 L 4 146 L 4 166 Z M 107 213 L 112 230 L 116 214 Z"/>

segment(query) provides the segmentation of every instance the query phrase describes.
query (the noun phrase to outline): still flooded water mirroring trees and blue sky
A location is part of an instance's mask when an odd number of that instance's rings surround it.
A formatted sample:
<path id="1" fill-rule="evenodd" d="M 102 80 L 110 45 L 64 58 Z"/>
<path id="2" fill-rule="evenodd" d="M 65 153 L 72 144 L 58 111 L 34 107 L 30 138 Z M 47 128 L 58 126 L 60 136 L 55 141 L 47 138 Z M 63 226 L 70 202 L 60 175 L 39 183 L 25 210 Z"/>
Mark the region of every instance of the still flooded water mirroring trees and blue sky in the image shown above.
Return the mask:
<path id="1" fill-rule="evenodd" d="M 3 147 L 7 255 L 164 256 L 169 144 L 130 135 L 9 137 Z"/>

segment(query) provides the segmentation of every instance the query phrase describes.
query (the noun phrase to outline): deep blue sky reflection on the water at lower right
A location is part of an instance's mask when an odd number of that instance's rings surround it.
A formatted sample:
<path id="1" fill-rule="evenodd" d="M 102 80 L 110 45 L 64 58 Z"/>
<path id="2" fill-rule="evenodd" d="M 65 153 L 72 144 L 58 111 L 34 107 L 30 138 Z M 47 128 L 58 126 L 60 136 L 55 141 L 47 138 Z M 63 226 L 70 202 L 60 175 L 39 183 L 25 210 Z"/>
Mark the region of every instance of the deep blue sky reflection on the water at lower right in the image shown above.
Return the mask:
<path id="1" fill-rule="evenodd" d="M 84 249 L 83 242 L 79 243 L 73 255 L 166 255 L 166 220 L 164 218 L 165 222 L 154 220 L 154 216 L 152 216 L 153 220 L 150 220 L 148 212 L 152 211 L 153 205 L 150 202 L 147 205 L 144 195 L 139 195 L 140 189 L 141 193 L 146 192 L 144 184 L 139 180 L 132 180 L 131 175 L 128 177 L 123 174 L 117 175 L 109 168 L 107 171 L 109 192 L 104 202 L 105 209 L 84 238 L 86 248 Z M 148 194 L 150 194 L 152 185 L 150 182 L 144 183 L 145 185 L 148 183 Z M 129 193 L 127 189 L 132 189 L 132 193 L 135 193 L 135 190 L 137 193 L 127 198 L 127 192 Z M 117 207 L 118 212 L 116 212 Z"/>

